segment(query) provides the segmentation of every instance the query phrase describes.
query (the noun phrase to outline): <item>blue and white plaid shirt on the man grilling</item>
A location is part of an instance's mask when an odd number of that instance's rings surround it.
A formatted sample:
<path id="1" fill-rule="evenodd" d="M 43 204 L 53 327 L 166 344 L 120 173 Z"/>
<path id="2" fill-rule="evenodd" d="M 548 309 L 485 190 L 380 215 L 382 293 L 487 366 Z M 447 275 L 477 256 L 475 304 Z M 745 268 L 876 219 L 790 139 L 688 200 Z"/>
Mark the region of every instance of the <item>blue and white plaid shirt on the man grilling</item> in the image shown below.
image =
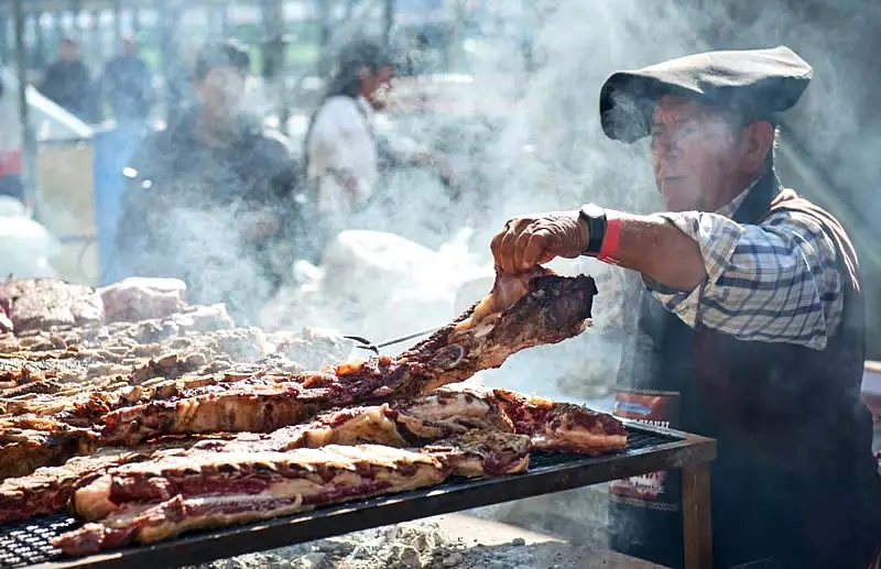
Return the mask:
<path id="1" fill-rule="evenodd" d="M 697 242 L 707 280 L 686 293 L 646 286 L 692 328 L 823 350 L 844 309 L 835 245 L 803 214 L 775 212 L 759 226 L 732 221 L 750 189 L 715 214 L 661 214 Z"/>

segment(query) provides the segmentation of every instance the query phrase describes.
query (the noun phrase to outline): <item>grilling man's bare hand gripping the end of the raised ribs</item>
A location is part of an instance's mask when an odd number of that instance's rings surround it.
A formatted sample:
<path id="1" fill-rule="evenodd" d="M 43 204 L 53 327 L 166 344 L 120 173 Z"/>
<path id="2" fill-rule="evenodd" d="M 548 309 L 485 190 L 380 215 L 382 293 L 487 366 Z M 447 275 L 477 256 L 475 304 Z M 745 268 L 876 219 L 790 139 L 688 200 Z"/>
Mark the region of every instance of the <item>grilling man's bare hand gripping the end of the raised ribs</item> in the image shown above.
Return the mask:
<path id="1" fill-rule="evenodd" d="M 490 248 L 498 269 L 519 273 L 557 256 L 575 259 L 587 242 L 587 223 L 578 211 L 554 211 L 510 219 Z"/>

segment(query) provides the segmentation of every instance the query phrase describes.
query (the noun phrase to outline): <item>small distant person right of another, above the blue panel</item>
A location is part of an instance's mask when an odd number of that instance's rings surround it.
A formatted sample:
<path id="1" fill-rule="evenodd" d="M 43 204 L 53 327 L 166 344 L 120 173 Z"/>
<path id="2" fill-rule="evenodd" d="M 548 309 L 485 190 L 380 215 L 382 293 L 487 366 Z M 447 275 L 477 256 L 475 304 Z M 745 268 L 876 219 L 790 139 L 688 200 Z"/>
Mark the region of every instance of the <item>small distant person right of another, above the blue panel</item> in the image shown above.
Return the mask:
<path id="1" fill-rule="evenodd" d="M 150 66 L 138 56 L 134 37 L 122 39 L 120 54 L 105 65 L 100 85 L 117 123 L 143 122 L 150 117 L 152 76 Z"/>

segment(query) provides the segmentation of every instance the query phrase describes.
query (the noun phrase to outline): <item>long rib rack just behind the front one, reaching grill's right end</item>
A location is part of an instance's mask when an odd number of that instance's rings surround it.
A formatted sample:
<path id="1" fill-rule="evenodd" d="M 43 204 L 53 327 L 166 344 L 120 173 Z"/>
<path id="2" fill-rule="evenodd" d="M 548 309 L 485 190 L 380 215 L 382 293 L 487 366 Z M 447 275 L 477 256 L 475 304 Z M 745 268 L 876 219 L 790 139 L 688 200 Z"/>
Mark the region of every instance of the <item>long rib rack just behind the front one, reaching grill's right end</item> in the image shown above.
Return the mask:
<path id="1" fill-rule="evenodd" d="M 457 439 L 457 437 L 459 437 Z M 461 438 L 466 437 L 466 438 Z M 479 447 L 483 438 L 494 440 L 489 447 Z M 493 439 L 494 438 L 494 439 Z M 202 453 L 259 453 L 285 452 L 298 448 L 322 448 L 330 445 L 384 445 L 395 448 L 417 448 L 443 457 L 445 445 L 455 441 L 457 449 L 471 448 L 481 463 L 489 464 L 487 473 L 509 473 L 510 462 L 492 460 L 483 455 L 489 448 L 497 457 L 514 457 L 511 449 L 499 455 L 492 449 L 509 445 L 524 451 L 569 451 L 598 455 L 627 446 L 627 431 L 614 417 L 592 412 L 580 405 L 557 403 L 541 397 L 527 397 L 505 390 L 443 387 L 429 395 L 414 400 L 393 401 L 372 406 L 349 407 L 323 413 L 309 423 L 284 427 L 272 433 L 241 433 L 229 438 L 167 441 L 162 446 L 140 447 L 127 461 L 143 460 L 163 448 L 188 447 L 191 455 Z M 480 450 L 480 449 L 483 450 Z M 478 452 L 480 450 L 480 452 Z M 119 453 L 106 449 L 110 456 Z M 481 455 L 482 452 L 482 455 Z M 17 518 L 39 513 L 59 511 L 66 505 L 76 481 L 72 472 L 88 468 L 91 477 L 118 466 L 110 459 L 91 461 L 93 457 L 76 458 L 57 469 L 41 469 L 31 477 L 9 480 L 0 486 L 0 504 L 15 503 L 20 507 Z M 474 460 L 454 455 L 463 464 L 448 466 L 459 475 L 477 475 Z M 521 457 L 522 459 L 522 457 Z M 74 466 L 68 471 L 68 466 Z M 469 470 L 470 464 L 470 470 Z M 496 466 L 493 466 L 496 464 Z M 62 482 L 53 481 L 62 478 Z M 83 474 L 85 478 L 85 474 Z M 46 481 L 53 481 L 47 483 Z M 65 486 L 59 493 L 58 486 Z M 3 492 L 7 489 L 8 492 Z M 18 490 L 17 490 L 18 489 Z M 19 491 L 21 490 L 21 492 Z M 20 500 L 26 492 L 26 502 Z M 11 495 L 10 495 L 11 493 Z M 3 502 L 6 496 L 6 502 Z M 17 497 L 19 496 L 19 497 Z M 34 507 L 37 506 L 37 507 Z M 54 510 L 52 510 L 54 508 Z M 0 523 L 3 521 L 0 505 Z M 10 518 L 11 519 L 11 518 Z"/>

